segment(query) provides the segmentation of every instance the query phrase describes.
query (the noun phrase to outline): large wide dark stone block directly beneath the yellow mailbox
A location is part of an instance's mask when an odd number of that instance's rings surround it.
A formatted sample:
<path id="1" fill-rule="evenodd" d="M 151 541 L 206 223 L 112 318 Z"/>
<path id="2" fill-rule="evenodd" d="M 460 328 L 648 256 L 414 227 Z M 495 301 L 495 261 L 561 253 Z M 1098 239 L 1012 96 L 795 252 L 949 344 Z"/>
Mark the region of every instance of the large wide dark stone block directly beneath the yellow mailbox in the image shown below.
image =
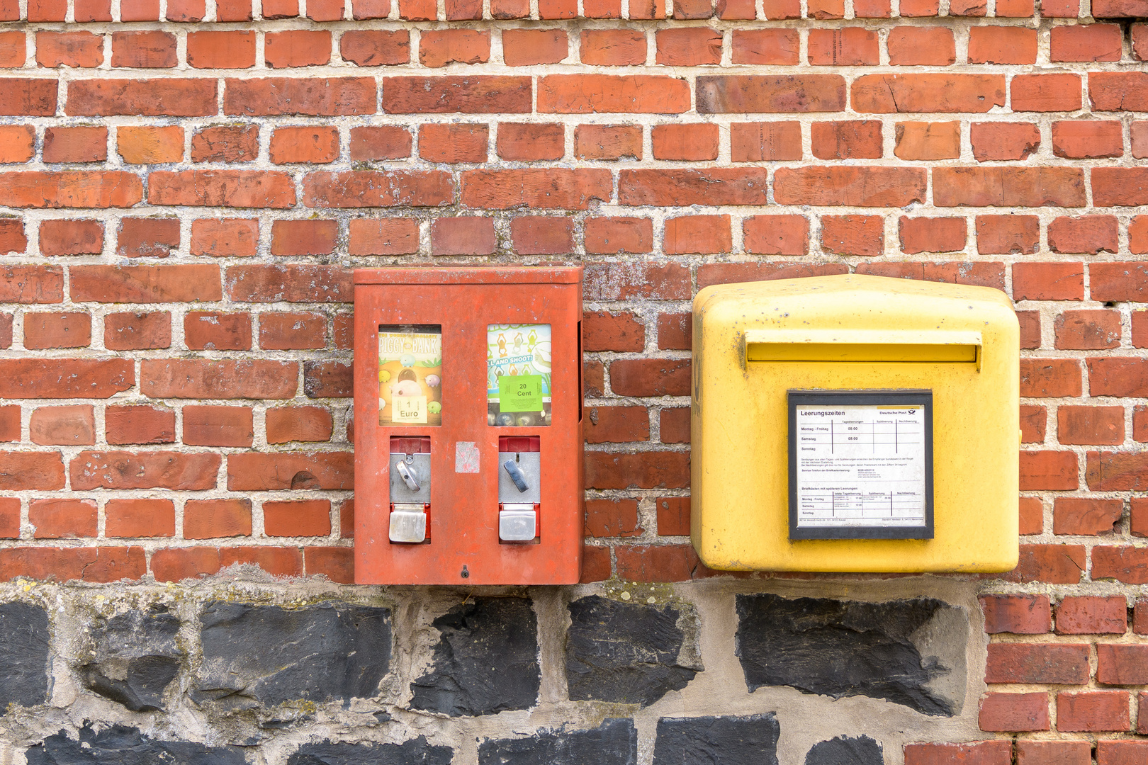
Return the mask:
<path id="1" fill-rule="evenodd" d="M 925 715 L 952 716 L 957 703 L 934 682 L 951 666 L 922 655 L 926 624 L 946 603 L 932 599 L 864 603 L 778 595 L 737 596 L 737 656 L 745 684 L 802 693 L 871 696 Z M 918 634 L 920 631 L 920 634 Z M 952 635 L 963 647 L 964 635 Z"/>

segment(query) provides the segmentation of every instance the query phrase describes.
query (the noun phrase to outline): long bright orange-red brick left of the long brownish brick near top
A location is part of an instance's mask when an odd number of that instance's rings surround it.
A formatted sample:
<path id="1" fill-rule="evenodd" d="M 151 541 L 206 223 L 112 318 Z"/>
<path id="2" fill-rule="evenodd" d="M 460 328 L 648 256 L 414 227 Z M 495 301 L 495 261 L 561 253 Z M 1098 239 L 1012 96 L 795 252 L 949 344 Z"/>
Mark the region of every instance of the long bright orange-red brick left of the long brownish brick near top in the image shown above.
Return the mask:
<path id="1" fill-rule="evenodd" d="M 681 114 L 689 108 L 690 86 L 673 77 L 546 75 L 538 78 L 538 112 Z"/>

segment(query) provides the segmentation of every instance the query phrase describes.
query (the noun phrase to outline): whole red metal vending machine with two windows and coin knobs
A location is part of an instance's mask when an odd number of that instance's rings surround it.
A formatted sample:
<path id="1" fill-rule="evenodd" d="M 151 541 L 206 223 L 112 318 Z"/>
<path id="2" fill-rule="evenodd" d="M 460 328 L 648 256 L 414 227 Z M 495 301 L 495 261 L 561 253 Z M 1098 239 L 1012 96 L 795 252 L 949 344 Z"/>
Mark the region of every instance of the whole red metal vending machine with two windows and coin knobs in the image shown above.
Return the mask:
<path id="1" fill-rule="evenodd" d="M 355 281 L 355 581 L 577 583 L 582 270 L 377 268 Z M 522 337 L 507 330 L 523 325 Z M 380 333 L 400 351 L 382 365 Z M 535 349 L 533 365 L 510 364 Z M 499 408 L 499 391 L 522 401 Z"/>

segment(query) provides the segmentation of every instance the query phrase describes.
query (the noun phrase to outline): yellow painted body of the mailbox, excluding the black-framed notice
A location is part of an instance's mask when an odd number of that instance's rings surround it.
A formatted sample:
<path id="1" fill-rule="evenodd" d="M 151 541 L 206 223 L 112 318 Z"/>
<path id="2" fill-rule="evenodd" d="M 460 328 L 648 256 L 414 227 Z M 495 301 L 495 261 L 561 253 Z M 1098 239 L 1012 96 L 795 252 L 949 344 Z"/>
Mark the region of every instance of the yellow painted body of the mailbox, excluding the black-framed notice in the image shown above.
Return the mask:
<path id="1" fill-rule="evenodd" d="M 987 287 L 839 275 L 693 300 L 691 534 L 712 569 L 1016 567 L 1019 327 Z M 789 539 L 786 391 L 930 389 L 933 539 Z"/>

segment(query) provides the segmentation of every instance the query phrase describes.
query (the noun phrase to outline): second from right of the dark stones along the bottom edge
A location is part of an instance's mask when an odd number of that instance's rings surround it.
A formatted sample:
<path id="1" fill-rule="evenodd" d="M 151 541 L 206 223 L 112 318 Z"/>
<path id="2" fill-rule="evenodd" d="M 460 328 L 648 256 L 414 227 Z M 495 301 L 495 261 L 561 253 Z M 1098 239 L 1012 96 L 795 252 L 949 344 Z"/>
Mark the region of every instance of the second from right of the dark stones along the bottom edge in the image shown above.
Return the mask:
<path id="1" fill-rule="evenodd" d="M 770 713 L 662 717 L 653 765 L 777 765 L 781 726 Z"/>

